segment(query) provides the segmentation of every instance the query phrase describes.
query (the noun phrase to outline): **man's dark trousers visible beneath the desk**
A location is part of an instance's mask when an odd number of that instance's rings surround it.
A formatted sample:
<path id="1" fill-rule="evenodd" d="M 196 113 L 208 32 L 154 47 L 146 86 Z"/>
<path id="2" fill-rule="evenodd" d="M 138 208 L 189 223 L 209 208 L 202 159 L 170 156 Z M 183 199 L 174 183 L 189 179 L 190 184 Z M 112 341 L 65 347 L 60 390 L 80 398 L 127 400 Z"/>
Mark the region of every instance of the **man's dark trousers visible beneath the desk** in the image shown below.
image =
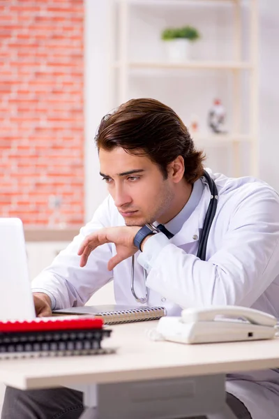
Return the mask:
<path id="1" fill-rule="evenodd" d="M 229 393 L 227 393 L 227 404 L 236 418 L 252 419 L 246 406 Z M 27 391 L 7 387 L 1 419 L 77 419 L 83 410 L 80 391 L 63 387 Z M 96 412 L 91 411 L 91 413 L 90 419 L 98 417 Z"/>

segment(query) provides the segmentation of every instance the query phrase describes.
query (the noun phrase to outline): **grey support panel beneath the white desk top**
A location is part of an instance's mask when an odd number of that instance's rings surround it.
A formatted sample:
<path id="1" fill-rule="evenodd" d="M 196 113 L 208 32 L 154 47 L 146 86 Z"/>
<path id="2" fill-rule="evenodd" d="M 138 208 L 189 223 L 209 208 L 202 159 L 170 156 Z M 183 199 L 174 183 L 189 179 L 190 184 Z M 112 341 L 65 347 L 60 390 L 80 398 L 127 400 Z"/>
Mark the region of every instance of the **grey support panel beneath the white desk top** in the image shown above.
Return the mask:
<path id="1" fill-rule="evenodd" d="M 69 387 L 84 392 L 80 419 L 236 419 L 225 402 L 223 374 Z"/>

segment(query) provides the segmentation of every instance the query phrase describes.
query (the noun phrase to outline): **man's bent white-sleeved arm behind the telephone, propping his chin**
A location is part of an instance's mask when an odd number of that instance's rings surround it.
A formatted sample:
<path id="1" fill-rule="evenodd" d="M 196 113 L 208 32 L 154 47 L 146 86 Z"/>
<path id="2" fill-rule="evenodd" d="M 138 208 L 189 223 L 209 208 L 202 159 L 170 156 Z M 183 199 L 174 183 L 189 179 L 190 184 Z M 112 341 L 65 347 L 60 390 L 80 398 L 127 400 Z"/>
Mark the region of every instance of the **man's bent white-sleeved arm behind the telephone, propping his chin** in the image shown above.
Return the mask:
<path id="1" fill-rule="evenodd" d="M 149 288 L 181 307 L 250 307 L 279 274 L 278 196 L 269 188 L 259 188 L 244 199 L 219 250 L 207 261 L 165 243 L 153 258 L 155 240 L 156 236 L 150 237 L 143 247 L 143 253 L 149 253 L 145 260 L 151 261 Z"/>

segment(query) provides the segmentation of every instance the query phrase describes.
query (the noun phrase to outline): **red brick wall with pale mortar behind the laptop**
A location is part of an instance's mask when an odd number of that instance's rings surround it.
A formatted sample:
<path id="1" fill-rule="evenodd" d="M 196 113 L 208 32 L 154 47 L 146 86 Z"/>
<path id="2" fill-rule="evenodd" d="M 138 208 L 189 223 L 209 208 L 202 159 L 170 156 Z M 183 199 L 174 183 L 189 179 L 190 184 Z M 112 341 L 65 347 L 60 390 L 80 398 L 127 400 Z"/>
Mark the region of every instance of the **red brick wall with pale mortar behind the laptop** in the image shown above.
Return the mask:
<path id="1" fill-rule="evenodd" d="M 0 0 L 0 216 L 84 221 L 83 24 L 83 0 Z"/>

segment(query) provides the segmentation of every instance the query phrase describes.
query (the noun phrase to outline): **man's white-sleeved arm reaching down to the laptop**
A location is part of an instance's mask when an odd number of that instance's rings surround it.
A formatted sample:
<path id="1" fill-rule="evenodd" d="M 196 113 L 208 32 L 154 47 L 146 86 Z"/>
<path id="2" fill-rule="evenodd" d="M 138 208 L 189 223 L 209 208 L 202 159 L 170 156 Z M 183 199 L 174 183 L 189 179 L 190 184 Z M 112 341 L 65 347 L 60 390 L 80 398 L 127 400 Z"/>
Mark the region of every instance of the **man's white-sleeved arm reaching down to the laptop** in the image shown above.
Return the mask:
<path id="1" fill-rule="evenodd" d="M 111 244 L 103 244 L 93 251 L 89 263 L 83 268 L 77 250 L 84 237 L 107 226 L 110 226 L 109 198 L 96 210 L 93 219 L 81 228 L 73 242 L 32 281 L 33 293 L 47 294 L 52 309 L 85 304 L 93 293 L 112 279 L 112 272 L 107 270 L 108 260 L 112 257 Z"/>

